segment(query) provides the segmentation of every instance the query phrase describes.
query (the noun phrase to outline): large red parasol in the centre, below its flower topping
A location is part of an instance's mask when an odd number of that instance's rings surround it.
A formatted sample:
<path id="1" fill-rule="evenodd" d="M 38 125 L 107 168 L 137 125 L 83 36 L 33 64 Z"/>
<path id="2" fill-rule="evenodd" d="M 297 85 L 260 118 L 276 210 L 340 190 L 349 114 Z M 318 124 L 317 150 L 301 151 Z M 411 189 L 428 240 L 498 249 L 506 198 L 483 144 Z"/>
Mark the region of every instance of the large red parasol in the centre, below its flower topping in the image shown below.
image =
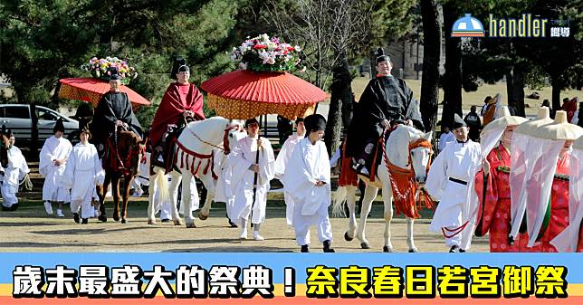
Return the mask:
<path id="1" fill-rule="evenodd" d="M 277 113 L 287 119 L 313 113 L 326 92 L 288 72 L 232 71 L 202 83 L 208 106 L 227 119 Z"/>

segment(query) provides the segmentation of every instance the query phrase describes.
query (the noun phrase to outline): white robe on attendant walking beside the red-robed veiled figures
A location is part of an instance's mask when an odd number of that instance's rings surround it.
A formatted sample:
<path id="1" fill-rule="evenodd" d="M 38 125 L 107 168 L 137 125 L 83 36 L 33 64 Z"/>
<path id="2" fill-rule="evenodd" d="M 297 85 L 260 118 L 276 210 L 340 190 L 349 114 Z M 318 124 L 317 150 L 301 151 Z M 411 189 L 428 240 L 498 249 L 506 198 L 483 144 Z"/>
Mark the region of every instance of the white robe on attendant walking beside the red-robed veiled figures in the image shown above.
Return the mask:
<path id="1" fill-rule="evenodd" d="M 454 236 L 454 241 L 448 239 L 448 245 L 456 244 L 462 249 L 469 249 L 473 234 L 473 219 L 470 211 L 473 208 L 468 202 L 470 181 L 481 164 L 481 148 L 478 143 L 468 140 L 466 143 L 450 142 L 444 150 L 435 157 L 434 163 L 427 174 L 425 188 L 439 205 L 429 230 L 442 232 L 442 228 L 459 227 L 469 221 L 462 234 Z M 449 180 L 450 177 L 467 182 L 467 185 Z"/>

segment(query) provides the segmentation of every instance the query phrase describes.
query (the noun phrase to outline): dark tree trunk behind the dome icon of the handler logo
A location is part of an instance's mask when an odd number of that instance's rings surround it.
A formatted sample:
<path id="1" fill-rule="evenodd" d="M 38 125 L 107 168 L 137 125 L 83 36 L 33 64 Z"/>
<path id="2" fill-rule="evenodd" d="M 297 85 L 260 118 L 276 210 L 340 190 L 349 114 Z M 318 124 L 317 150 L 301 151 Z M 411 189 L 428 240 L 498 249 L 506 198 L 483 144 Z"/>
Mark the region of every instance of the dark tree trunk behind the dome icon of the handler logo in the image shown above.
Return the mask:
<path id="1" fill-rule="evenodd" d="M 462 50 L 460 38 L 451 37 L 452 27 L 459 17 L 451 4 L 444 5 L 444 36 L 445 36 L 445 74 L 444 74 L 444 110 L 442 126 L 451 126 L 454 113 L 462 113 Z"/>

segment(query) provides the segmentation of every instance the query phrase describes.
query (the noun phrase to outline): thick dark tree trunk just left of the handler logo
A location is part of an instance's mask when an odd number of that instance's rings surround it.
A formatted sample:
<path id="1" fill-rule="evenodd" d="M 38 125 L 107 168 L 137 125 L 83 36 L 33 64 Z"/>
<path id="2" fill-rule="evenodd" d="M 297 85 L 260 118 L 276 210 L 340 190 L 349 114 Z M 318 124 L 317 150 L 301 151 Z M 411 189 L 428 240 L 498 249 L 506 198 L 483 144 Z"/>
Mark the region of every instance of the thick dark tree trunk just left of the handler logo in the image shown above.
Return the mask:
<path id="1" fill-rule="evenodd" d="M 441 23 L 435 0 L 421 0 L 421 18 L 424 37 L 421 116 L 425 130 L 435 130 L 437 103 L 439 102 L 439 59 L 441 57 Z"/>

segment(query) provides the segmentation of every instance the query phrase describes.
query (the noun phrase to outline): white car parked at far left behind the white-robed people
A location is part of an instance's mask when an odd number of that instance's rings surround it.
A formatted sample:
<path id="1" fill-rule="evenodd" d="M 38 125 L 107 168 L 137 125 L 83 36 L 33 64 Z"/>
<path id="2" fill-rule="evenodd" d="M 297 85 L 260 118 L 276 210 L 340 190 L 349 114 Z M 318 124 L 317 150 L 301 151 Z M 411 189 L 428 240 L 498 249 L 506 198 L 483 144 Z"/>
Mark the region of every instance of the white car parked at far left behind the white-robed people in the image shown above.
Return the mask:
<path id="1" fill-rule="evenodd" d="M 6 129 L 12 129 L 14 137 L 19 147 L 32 143 L 33 118 L 38 119 L 38 148 L 43 146 L 44 140 L 53 136 L 53 127 L 57 119 L 61 118 L 65 127 L 65 138 L 72 131 L 79 129 L 79 122 L 75 119 L 67 118 L 58 111 L 36 106 L 34 113 L 31 113 L 31 106 L 24 104 L 0 104 L 0 126 L 5 125 Z"/>

